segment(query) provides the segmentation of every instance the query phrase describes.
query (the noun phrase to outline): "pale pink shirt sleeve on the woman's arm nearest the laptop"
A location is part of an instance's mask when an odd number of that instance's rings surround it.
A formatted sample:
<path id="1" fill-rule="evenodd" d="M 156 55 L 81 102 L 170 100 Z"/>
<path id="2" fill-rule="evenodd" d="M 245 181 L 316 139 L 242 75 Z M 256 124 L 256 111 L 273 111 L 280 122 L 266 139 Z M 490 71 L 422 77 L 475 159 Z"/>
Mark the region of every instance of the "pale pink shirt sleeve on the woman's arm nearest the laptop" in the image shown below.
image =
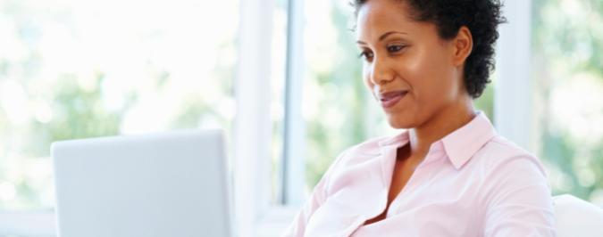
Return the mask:
<path id="1" fill-rule="evenodd" d="M 310 197 L 306 200 L 304 206 L 297 213 L 297 216 L 294 218 L 293 222 L 282 235 L 283 237 L 304 236 L 304 233 L 306 233 L 306 225 L 312 217 L 312 214 L 314 214 L 314 211 L 319 208 L 322 203 L 324 203 L 324 200 L 327 199 L 326 188 L 327 184 L 329 183 L 329 177 L 331 176 L 332 169 L 334 169 L 338 161 L 344 157 L 345 153 L 346 151 L 342 152 L 338 158 L 333 161 L 324 175 L 322 175 L 321 180 L 314 186 L 312 194 L 310 194 Z"/>

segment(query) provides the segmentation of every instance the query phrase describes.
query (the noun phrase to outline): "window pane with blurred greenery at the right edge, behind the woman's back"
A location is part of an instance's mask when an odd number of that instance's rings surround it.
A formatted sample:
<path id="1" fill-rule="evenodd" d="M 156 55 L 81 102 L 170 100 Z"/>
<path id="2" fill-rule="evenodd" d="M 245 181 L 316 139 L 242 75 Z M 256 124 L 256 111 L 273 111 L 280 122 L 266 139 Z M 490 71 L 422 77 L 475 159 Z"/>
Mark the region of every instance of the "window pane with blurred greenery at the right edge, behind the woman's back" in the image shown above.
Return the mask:
<path id="1" fill-rule="evenodd" d="M 603 1 L 535 0 L 532 76 L 554 194 L 603 206 Z"/>

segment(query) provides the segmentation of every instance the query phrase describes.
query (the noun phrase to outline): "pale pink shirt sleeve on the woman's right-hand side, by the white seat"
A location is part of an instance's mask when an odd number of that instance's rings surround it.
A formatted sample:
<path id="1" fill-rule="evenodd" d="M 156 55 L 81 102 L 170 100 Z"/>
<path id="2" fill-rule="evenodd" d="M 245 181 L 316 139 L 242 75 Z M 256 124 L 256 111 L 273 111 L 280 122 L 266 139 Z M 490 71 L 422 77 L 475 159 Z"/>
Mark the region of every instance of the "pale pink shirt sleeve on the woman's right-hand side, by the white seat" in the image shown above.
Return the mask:
<path id="1" fill-rule="evenodd" d="M 547 175 L 532 156 L 505 159 L 490 171 L 484 236 L 556 236 Z"/>

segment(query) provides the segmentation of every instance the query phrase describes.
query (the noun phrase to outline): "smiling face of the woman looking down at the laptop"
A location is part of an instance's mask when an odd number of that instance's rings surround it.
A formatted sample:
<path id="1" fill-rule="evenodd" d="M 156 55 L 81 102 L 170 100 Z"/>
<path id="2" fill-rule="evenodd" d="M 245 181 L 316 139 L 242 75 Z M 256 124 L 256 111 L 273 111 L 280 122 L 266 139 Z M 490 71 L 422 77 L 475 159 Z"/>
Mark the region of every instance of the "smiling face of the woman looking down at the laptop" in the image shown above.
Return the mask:
<path id="1" fill-rule="evenodd" d="M 420 127 L 468 96 L 455 40 L 431 22 L 412 20 L 396 0 L 367 1 L 358 10 L 357 44 L 364 83 L 395 128 Z"/>

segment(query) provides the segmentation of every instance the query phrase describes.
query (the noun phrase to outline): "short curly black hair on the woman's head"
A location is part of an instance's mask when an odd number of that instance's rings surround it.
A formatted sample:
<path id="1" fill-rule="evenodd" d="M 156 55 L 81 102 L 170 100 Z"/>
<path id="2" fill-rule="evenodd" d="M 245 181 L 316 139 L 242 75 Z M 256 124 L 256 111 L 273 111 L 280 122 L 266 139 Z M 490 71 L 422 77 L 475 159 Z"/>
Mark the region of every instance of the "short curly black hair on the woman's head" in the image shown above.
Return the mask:
<path id="1" fill-rule="evenodd" d="M 356 16 L 368 0 L 353 0 Z M 417 21 L 432 22 L 443 39 L 452 39 L 465 26 L 473 36 L 473 51 L 465 61 L 465 88 L 478 98 L 490 83 L 494 70 L 494 50 L 498 39 L 498 24 L 507 22 L 502 15 L 499 0 L 396 0 L 406 3 Z"/>

